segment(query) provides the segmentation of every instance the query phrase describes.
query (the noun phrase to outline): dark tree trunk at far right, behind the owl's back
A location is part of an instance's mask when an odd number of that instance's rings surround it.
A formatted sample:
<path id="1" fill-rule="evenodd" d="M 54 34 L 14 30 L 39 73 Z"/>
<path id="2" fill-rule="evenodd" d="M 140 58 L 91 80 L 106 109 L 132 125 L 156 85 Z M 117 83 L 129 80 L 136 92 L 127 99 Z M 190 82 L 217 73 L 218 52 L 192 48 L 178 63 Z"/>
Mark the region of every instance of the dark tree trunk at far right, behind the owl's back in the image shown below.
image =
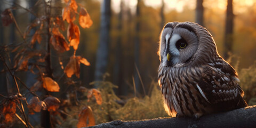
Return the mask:
<path id="1" fill-rule="evenodd" d="M 226 29 L 225 29 L 225 41 L 224 41 L 224 59 L 229 58 L 229 52 L 232 52 L 233 46 L 233 0 L 228 0 L 227 4 L 227 16 L 226 16 Z"/>

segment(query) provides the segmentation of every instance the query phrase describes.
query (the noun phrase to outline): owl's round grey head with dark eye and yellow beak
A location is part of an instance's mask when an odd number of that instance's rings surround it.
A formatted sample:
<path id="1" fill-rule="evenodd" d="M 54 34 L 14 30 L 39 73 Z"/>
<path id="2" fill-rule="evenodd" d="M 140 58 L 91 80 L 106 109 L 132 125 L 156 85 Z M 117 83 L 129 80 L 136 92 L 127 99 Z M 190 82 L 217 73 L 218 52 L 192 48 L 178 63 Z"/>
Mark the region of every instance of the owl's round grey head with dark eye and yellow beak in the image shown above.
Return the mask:
<path id="1" fill-rule="evenodd" d="M 169 22 L 160 35 L 159 59 L 164 67 L 202 65 L 219 57 L 212 35 L 194 22 Z"/>

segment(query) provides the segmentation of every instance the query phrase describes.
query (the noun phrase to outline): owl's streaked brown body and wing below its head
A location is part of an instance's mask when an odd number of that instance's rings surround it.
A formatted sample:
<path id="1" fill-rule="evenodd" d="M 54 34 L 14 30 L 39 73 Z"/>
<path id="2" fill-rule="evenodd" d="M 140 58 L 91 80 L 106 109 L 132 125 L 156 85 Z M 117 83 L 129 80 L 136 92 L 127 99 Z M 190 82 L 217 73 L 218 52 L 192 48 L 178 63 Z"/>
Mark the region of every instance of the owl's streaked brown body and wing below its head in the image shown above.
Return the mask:
<path id="1" fill-rule="evenodd" d="M 158 83 L 165 110 L 171 116 L 200 117 L 247 106 L 234 71 L 224 60 L 201 67 L 160 65 Z"/>

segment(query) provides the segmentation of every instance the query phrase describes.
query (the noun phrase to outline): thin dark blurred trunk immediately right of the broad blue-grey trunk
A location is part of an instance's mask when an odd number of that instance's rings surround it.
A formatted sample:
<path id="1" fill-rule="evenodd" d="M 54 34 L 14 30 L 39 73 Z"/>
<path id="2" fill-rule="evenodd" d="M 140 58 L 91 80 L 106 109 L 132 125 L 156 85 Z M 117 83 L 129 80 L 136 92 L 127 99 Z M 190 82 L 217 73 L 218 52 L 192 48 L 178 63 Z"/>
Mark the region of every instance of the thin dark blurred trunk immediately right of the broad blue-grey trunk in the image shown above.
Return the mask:
<path id="1" fill-rule="evenodd" d="M 122 94 L 122 57 L 123 57 L 123 53 L 122 53 L 122 28 L 123 28 L 123 9 L 124 9 L 124 1 L 121 1 L 120 4 L 120 12 L 118 14 L 118 32 L 119 35 L 117 37 L 117 44 L 115 47 L 115 64 L 114 64 L 114 74 L 113 74 L 113 83 L 115 85 L 118 85 L 118 92 L 117 94 Z"/>

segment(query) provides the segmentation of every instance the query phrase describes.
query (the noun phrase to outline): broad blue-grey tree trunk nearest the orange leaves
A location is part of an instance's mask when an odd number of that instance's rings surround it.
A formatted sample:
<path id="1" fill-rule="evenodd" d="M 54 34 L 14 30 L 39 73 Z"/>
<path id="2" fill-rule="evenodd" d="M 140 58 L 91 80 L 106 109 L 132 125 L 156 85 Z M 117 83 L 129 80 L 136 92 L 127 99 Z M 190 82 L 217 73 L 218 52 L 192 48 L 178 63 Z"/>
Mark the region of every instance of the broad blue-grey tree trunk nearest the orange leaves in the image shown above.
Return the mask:
<path id="1" fill-rule="evenodd" d="M 104 0 L 101 6 L 101 23 L 100 23 L 100 41 L 96 56 L 95 81 L 102 81 L 103 74 L 106 73 L 109 54 L 109 31 L 110 31 L 110 15 L 111 1 Z"/>

